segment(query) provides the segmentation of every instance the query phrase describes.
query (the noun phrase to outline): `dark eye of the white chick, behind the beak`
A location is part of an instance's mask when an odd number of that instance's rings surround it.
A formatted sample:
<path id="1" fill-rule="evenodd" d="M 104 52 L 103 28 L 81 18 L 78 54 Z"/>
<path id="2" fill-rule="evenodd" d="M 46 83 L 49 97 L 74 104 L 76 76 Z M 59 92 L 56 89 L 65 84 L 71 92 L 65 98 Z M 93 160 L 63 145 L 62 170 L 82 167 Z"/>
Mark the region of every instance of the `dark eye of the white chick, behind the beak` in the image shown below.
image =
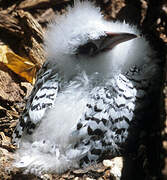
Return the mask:
<path id="1" fill-rule="evenodd" d="M 94 55 L 97 52 L 97 46 L 93 42 L 88 42 L 77 49 L 77 54 L 81 55 Z"/>

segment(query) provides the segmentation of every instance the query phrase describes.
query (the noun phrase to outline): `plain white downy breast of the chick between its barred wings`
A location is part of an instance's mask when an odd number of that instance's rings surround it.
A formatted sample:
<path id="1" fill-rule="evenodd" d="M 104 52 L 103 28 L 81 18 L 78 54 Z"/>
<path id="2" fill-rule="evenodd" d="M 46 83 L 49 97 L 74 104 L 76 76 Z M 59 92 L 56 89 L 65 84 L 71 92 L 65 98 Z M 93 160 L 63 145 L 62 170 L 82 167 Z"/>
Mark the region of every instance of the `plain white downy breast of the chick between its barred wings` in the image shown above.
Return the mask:
<path id="1" fill-rule="evenodd" d="M 54 106 L 47 111 L 34 134 L 35 138 L 66 145 L 88 102 L 87 91 L 78 86 L 71 84 L 58 94 Z"/>

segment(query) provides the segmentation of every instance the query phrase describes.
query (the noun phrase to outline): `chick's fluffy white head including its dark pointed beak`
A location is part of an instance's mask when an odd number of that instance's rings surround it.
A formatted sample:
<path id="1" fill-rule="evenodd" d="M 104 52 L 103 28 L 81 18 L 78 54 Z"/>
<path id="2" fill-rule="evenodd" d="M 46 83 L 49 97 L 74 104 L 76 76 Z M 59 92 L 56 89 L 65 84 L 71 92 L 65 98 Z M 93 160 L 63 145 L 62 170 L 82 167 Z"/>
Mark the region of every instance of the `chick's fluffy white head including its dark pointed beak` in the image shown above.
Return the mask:
<path id="1" fill-rule="evenodd" d="M 48 59 L 65 72 L 81 69 L 112 74 L 133 61 L 132 52 L 138 49 L 134 48 L 137 34 L 136 28 L 126 23 L 106 21 L 100 9 L 89 1 L 77 1 L 49 26 L 46 52 Z"/>

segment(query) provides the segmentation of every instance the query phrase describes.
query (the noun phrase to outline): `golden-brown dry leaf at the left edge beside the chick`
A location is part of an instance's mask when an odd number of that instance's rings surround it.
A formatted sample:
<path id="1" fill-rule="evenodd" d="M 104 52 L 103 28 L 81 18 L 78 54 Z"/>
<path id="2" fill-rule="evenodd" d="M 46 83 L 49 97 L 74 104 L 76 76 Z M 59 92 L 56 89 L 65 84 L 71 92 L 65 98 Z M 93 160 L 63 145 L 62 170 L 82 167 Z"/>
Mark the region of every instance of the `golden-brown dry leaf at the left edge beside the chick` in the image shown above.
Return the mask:
<path id="1" fill-rule="evenodd" d="M 34 84 L 37 67 L 28 59 L 18 56 L 9 50 L 7 46 L 0 46 L 0 62 L 28 82 Z"/>

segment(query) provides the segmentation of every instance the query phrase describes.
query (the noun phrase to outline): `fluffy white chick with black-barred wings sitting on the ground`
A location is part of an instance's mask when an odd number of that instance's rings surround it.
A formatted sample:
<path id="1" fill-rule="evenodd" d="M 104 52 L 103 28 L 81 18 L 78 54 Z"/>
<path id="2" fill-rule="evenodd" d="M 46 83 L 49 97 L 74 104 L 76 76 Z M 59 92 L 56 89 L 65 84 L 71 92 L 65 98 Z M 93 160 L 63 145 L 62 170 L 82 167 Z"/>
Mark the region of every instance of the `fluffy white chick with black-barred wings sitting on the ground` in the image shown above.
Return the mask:
<path id="1" fill-rule="evenodd" d="M 84 168 L 135 144 L 159 59 L 135 25 L 75 1 L 48 25 L 46 61 L 14 130 L 14 166 L 41 175 Z M 135 134 L 136 133 L 136 134 Z"/>

